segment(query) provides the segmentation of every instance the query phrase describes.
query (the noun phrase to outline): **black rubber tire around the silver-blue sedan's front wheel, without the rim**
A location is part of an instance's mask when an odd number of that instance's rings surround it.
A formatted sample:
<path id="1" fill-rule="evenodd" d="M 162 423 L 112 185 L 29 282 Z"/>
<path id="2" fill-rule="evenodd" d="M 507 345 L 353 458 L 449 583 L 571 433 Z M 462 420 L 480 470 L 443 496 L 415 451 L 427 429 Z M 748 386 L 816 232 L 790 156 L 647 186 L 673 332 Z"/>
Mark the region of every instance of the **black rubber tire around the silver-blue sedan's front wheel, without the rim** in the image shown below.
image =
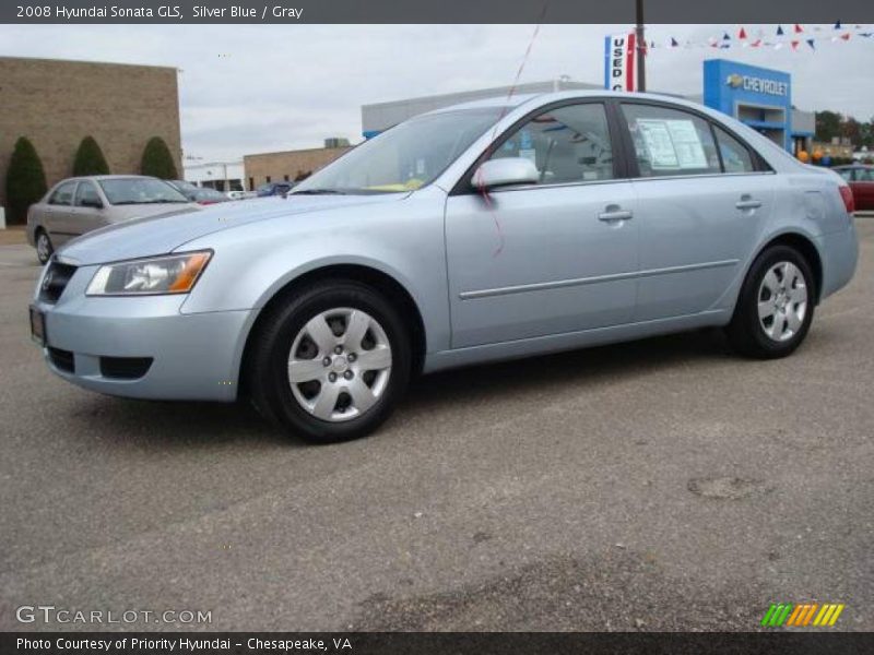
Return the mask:
<path id="1" fill-rule="evenodd" d="M 292 345 L 307 322 L 336 308 L 363 310 L 379 323 L 391 348 L 391 370 L 373 406 L 361 416 L 333 422 L 302 406 L 292 391 L 287 362 Z M 259 319 L 250 344 L 244 371 L 250 401 L 264 418 L 310 443 L 369 434 L 389 418 L 410 382 L 411 341 L 403 319 L 380 294 L 350 279 L 321 281 L 273 303 Z"/>

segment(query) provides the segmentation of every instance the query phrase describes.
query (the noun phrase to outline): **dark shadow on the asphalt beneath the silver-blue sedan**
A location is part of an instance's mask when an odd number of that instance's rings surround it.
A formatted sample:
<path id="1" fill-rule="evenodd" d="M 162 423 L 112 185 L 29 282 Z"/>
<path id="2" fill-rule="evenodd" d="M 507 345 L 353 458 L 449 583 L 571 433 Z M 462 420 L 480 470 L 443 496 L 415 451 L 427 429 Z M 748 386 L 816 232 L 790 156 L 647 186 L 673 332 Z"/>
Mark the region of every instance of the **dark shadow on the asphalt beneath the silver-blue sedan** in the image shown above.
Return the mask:
<path id="1" fill-rule="evenodd" d="M 650 369 L 665 366 L 729 357 L 732 356 L 718 331 L 699 330 L 471 366 L 416 379 L 395 416 L 425 409 L 450 410 L 468 402 L 497 402 L 501 396 L 525 393 L 546 383 L 598 384 L 607 378 L 646 374 Z M 237 444 L 245 444 L 246 449 L 252 444 L 267 449 L 306 446 L 303 440 L 262 419 L 246 402 L 139 401 L 88 394 L 68 418 L 85 426 L 95 422 L 111 426 L 116 443 L 149 450 Z"/>

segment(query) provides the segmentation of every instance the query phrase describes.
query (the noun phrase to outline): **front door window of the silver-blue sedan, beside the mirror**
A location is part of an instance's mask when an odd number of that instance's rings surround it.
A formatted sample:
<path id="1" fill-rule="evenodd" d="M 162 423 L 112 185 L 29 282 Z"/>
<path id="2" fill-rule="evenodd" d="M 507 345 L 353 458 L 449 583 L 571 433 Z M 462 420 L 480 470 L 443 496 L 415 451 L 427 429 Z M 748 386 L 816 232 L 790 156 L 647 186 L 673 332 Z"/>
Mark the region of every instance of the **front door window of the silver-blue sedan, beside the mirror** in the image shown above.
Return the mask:
<path id="1" fill-rule="evenodd" d="M 613 147 L 604 106 L 568 105 L 535 116 L 492 155 L 531 159 L 541 184 L 613 179 Z"/>

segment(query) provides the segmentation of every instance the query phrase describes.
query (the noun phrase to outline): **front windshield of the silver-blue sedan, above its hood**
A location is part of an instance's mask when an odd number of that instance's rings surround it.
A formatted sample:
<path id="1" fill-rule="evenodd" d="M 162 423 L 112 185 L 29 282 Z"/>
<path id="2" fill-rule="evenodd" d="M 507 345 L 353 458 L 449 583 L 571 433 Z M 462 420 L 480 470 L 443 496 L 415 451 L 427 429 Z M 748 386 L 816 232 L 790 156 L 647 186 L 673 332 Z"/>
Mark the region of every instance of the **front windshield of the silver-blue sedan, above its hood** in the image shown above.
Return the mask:
<path id="1" fill-rule="evenodd" d="M 366 141 L 300 182 L 304 193 L 399 193 L 434 181 L 503 114 L 501 107 L 413 118 Z"/>

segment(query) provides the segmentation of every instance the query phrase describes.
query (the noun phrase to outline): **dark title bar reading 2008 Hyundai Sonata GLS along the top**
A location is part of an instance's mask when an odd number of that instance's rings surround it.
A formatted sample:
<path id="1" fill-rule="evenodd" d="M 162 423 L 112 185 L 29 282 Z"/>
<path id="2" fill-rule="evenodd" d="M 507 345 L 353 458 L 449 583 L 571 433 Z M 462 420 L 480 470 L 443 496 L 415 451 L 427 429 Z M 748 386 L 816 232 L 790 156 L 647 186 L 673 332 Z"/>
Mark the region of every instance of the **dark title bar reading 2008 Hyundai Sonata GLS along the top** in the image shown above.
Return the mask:
<path id="1" fill-rule="evenodd" d="M 647 23 L 867 23 L 872 0 L 646 0 Z M 542 17 L 542 20 L 541 20 Z M 0 23 L 634 23 L 635 0 L 3 0 Z"/>

